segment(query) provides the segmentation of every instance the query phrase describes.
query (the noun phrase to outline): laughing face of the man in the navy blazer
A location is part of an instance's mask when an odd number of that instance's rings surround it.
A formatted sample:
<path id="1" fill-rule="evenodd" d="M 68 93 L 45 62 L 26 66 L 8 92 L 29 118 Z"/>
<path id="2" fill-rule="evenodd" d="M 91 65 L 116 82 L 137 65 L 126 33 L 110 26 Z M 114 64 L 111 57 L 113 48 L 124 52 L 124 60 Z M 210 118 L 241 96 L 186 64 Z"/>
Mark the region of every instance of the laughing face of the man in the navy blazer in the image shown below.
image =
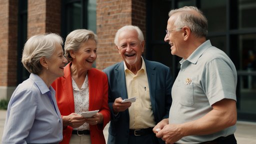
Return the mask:
<path id="1" fill-rule="evenodd" d="M 139 64 L 141 54 L 144 51 L 144 41 L 138 39 L 136 30 L 125 30 L 120 32 L 116 45 L 119 54 L 126 65 Z"/>

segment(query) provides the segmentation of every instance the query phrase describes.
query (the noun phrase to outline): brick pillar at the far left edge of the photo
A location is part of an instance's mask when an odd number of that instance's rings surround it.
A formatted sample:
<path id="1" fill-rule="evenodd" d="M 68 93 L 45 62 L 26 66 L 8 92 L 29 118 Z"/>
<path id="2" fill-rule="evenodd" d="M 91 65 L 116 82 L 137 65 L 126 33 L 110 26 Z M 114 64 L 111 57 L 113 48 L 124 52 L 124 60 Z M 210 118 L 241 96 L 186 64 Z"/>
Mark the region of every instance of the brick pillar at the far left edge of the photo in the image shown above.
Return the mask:
<path id="1" fill-rule="evenodd" d="M 0 86 L 16 85 L 17 0 L 0 0 Z"/>

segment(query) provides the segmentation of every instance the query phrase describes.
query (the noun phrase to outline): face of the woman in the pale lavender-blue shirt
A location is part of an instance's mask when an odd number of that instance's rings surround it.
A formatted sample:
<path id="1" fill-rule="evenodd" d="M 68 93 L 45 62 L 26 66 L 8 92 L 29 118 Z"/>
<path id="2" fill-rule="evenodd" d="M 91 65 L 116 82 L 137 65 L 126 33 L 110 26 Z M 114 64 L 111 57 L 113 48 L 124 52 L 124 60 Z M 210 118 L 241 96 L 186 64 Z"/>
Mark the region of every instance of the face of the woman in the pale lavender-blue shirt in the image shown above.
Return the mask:
<path id="1" fill-rule="evenodd" d="M 56 43 L 56 49 L 54 53 L 51 55 L 49 59 L 46 59 L 46 61 L 48 63 L 48 74 L 52 74 L 52 76 L 55 78 L 64 75 L 63 69 L 65 63 L 67 62 L 67 59 L 63 55 L 63 49 L 59 43 Z"/>

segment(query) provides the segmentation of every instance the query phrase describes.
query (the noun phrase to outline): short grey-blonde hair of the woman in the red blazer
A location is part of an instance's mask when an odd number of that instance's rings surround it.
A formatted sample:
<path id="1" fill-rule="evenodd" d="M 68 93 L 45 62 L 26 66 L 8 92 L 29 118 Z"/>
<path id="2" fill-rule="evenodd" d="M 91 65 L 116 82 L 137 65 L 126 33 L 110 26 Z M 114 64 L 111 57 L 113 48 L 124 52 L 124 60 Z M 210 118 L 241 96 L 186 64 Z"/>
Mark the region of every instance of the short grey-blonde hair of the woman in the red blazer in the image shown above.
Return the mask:
<path id="1" fill-rule="evenodd" d="M 70 50 L 78 51 L 80 44 L 86 42 L 88 39 L 93 39 L 97 43 L 97 35 L 93 31 L 87 29 L 76 29 L 71 31 L 66 36 L 66 41 L 64 45 L 65 57 L 72 61 L 73 58 L 70 55 Z"/>

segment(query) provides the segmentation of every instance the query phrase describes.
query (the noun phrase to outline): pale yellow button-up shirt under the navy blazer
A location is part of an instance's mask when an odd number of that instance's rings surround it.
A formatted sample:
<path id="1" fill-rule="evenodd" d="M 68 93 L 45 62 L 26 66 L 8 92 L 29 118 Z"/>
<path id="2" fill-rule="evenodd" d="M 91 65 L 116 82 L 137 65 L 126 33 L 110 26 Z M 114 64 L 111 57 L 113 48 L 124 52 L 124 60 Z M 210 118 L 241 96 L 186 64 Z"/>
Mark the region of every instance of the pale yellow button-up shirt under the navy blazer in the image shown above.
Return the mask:
<path id="1" fill-rule="evenodd" d="M 142 58 L 141 68 L 133 74 L 124 63 L 126 89 L 128 98 L 136 97 L 129 110 L 129 128 L 140 129 L 155 125 L 146 74 L 145 62 Z"/>

